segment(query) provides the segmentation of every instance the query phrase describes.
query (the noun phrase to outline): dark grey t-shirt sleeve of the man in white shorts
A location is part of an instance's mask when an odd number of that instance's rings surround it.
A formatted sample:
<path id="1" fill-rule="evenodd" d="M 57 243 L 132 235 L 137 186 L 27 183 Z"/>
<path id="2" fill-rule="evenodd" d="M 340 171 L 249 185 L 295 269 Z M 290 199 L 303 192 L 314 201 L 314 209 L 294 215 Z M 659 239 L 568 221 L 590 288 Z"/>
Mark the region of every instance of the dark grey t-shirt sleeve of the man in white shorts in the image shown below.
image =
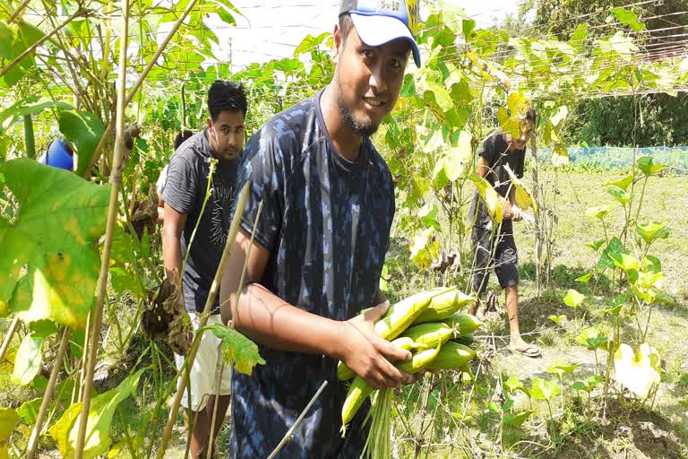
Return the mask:
<path id="1" fill-rule="evenodd" d="M 176 212 L 189 215 L 193 212 L 198 186 L 198 171 L 193 161 L 179 153 L 172 156 L 162 190 L 162 199 Z"/>

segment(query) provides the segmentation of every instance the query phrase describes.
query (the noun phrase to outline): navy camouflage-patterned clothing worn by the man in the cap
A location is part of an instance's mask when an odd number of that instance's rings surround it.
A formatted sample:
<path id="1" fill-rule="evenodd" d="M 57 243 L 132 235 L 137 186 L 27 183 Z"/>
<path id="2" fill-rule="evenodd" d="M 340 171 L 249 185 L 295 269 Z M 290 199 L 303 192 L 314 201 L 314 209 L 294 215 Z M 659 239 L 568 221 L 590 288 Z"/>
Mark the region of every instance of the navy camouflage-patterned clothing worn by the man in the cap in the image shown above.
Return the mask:
<path id="1" fill-rule="evenodd" d="M 254 134 L 237 189 L 251 181 L 241 221 L 270 257 L 262 285 L 289 304 L 333 320 L 374 306 L 394 216 L 391 174 L 368 139 L 355 162 L 331 143 L 320 96 L 273 117 Z M 303 333 L 308 333 L 307 329 Z M 280 451 L 282 458 L 358 457 L 366 441 L 361 410 L 340 437 L 346 387 L 323 355 L 259 346 L 266 365 L 234 372 L 230 457 L 270 455 L 324 380 L 320 398 Z"/>

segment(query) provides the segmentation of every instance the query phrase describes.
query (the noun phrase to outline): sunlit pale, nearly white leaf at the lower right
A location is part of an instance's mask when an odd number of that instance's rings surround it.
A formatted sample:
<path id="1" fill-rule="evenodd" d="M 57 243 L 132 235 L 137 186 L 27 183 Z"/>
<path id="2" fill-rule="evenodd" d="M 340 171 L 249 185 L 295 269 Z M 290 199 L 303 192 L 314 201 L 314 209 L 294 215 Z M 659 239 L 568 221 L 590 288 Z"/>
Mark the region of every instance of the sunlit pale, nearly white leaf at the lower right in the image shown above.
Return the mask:
<path id="1" fill-rule="evenodd" d="M 622 343 L 614 353 L 615 379 L 632 394 L 647 397 L 652 386 L 658 385 L 661 359 L 657 350 L 647 342 L 634 352 L 628 344 Z"/>

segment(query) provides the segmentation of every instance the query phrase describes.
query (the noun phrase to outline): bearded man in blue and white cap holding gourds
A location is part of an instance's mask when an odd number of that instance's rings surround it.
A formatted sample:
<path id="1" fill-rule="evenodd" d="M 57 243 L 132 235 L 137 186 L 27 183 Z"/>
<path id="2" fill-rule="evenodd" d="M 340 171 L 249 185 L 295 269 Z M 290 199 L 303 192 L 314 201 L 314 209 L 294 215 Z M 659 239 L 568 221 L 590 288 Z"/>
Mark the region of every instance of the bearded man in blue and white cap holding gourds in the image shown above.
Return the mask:
<path id="1" fill-rule="evenodd" d="M 370 135 L 399 97 L 409 55 L 420 65 L 416 25 L 415 1 L 342 2 L 330 84 L 246 144 L 237 189 L 250 182 L 250 193 L 220 298 L 223 319 L 259 343 L 267 364 L 251 377 L 233 372 L 229 457 L 270 455 L 323 381 L 279 457 L 358 457 L 366 410 L 341 438 L 337 360 L 375 388 L 413 380 L 390 363 L 410 353 L 373 329 L 388 307 L 379 281 L 394 189 Z"/>

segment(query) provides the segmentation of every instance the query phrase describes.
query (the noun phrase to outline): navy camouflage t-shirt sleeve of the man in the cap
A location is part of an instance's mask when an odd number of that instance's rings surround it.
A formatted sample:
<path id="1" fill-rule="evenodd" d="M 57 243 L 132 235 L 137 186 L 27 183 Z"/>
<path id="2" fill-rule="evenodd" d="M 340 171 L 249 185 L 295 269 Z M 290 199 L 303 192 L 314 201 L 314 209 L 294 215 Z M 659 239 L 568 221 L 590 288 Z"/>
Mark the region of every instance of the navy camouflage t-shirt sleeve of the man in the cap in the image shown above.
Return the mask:
<path id="1" fill-rule="evenodd" d="M 247 181 L 251 185 L 241 216 L 241 228 L 251 234 L 255 226 L 255 240 L 271 252 L 280 231 L 284 209 L 284 161 L 278 139 L 267 127 L 246 143 L 236 179 L 235 209 Z"/>

